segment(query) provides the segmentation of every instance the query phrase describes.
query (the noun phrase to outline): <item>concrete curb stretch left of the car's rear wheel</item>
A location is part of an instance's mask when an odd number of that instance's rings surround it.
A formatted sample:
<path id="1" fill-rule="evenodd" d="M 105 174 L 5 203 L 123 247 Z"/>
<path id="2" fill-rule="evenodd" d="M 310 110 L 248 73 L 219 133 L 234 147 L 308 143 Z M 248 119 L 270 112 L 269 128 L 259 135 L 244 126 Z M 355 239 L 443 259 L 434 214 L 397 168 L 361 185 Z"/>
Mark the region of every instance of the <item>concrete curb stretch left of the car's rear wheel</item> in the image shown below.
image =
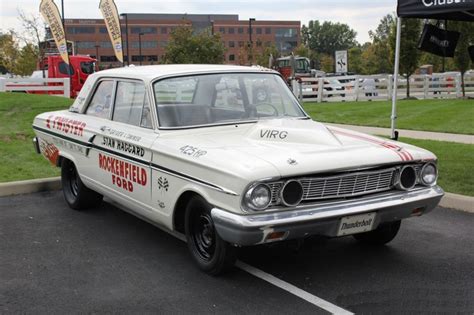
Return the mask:
<path id="1" fill-rule="evenodd" d="M 61 189 L 61 178 L 42 178 L 0 183 L 0 197 Z"/>

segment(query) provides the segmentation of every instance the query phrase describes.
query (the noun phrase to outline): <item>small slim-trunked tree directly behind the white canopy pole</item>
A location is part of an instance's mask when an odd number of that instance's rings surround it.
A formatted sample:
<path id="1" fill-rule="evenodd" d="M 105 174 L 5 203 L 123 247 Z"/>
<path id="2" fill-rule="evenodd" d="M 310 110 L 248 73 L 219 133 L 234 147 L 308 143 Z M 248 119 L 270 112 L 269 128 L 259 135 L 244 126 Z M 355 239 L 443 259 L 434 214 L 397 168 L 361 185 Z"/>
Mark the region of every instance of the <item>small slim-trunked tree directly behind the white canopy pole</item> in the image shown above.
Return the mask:
<path id="1" fill-rule="evenodd" d="M 400 43 L 400 73 L 407 79 L 407 98 L 410 97 L 410 76 L 418 68 L 421 51 L 418 49 L 418 40 L 421 33 L 421 21 L 418 19 L 403 19 Z M 390 32 L 389 43 L 391 56 L 395 56 L 395 26 Z"/>

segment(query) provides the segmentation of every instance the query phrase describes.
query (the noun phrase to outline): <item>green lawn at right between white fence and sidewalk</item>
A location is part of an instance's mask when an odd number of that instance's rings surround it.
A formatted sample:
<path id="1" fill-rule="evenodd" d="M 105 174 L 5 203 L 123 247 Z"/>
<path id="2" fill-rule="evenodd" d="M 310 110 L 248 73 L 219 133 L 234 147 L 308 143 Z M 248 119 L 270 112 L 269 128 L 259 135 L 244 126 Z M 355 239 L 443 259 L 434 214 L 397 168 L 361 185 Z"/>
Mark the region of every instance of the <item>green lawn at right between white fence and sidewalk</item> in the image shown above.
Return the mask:
<path id="1" fill-rule="evenodd" d="M 305 103 L 313 119 L 324 122 L 390 127 L 389 101 Z M 401 100 L 397 128 L 474 134 L 474 100 Z"/>

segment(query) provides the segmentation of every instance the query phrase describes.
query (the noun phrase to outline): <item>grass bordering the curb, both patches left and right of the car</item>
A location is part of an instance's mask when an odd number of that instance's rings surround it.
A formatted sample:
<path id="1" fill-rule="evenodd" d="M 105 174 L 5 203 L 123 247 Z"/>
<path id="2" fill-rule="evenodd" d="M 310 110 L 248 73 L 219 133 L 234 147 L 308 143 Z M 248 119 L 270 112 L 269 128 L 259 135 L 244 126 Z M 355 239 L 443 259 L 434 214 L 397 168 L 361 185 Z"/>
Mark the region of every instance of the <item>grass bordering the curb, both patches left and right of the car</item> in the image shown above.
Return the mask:
<path id="1" fill-rule="evenodd" d="M 46 95 L 0 93 L 0 182 L 58 176 L 59 170 L 36 154 L 31 139 L 33 118 L 66 109 L 72 100 Z M 449 192 L 474 196 L 474 146 L 451 142 L 401 139 L 434 152 L 440 185 Z"/>

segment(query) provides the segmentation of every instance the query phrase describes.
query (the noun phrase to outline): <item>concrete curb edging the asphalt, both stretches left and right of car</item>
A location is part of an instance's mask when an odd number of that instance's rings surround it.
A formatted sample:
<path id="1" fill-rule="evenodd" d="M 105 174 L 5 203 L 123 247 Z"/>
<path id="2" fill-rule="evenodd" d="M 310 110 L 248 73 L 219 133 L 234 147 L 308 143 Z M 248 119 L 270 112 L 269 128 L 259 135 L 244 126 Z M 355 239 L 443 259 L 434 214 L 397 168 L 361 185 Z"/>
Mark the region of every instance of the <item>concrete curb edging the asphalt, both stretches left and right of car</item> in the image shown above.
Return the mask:
<path id="1" fill-rule="evenodd" d="M 60 177 L 0 183 L 0 197 L 60 189 Z M 445 208 L 474 213 L 474 197 L 446 193 L 439 205 Z"/>

